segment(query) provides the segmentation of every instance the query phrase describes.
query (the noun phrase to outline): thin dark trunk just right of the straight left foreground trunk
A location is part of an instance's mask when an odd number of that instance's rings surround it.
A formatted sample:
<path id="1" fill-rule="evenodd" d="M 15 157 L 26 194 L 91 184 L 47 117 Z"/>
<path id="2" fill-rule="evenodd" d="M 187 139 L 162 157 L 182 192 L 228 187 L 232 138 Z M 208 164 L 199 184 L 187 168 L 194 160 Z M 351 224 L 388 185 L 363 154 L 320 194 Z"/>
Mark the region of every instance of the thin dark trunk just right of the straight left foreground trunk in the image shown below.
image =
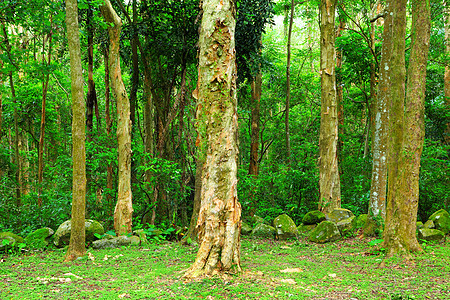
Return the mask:
<path id="1" fill-rule="evenodd" d="M 92 10 L 93 8 L 89 5 L 86 19 L 88 35 L 88 93 L 86 96 L 86 126 L 89 140 L 92 140 L 92 129 L 94 128 L 94 107 L 97 105 L 97 92 L 95 91 L 94 82 L 94 26 L 92 25 Z"/>

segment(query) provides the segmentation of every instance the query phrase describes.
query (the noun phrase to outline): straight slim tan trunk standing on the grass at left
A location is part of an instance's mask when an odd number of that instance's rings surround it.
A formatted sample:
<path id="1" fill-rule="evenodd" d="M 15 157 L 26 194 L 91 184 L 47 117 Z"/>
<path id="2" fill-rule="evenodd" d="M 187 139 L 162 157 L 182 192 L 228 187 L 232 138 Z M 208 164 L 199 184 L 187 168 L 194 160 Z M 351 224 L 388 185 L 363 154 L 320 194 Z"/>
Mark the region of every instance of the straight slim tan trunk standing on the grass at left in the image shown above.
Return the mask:
<path id="1" fill-rule="evenodd" d="M 70 78 L 72 87 L 72 231 L 65 261 L 73 261 L 86 254 L 86 148 L 83 73 L 78 32 L 78 7 L 76 0 L 66 0 L 67 41 L 70 54 Z"/>

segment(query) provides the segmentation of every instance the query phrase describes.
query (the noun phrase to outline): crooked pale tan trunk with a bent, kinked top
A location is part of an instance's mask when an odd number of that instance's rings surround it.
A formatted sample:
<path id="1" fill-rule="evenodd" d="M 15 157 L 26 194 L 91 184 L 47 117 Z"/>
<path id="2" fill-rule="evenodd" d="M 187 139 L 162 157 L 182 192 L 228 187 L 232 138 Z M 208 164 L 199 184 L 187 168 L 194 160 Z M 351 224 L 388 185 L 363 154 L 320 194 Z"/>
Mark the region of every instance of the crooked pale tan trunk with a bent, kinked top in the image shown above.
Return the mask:
<path id="1" fill-rule="evenodd" d="M 119 188 L 114 210 L 114 229 L 117 235 L 123 235 L 131 232 L 133 205 L 131 193 L 130 101 L 122 80 L 119 55 L 122 20 L 114 11 L 109 0 L 105 0 L 100 9 L 105 21 L 112 24 L 108 28 L 110 39 L 109 70 L 114 97 L 117 101 L 117 142 L 119 148 Z"/>

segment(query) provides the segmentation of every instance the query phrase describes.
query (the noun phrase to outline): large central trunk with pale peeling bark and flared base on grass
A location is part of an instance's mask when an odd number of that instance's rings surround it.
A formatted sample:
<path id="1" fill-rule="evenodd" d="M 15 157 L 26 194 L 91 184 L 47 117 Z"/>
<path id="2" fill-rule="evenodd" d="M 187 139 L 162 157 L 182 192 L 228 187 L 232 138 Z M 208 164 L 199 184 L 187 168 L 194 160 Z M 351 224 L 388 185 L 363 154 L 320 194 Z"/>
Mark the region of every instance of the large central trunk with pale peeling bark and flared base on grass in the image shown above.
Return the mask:
<path id="1" fill-rule="evenodd" d="M 241 205 L 237 199 L 236 7 L 231 0 L 204 0 L 199 37 L 200 147 L 206 159 L 197 221 L 200 248 L 185 273 L 240 270 Z M 200 151 L 203 153 L 203 151 Z"/>

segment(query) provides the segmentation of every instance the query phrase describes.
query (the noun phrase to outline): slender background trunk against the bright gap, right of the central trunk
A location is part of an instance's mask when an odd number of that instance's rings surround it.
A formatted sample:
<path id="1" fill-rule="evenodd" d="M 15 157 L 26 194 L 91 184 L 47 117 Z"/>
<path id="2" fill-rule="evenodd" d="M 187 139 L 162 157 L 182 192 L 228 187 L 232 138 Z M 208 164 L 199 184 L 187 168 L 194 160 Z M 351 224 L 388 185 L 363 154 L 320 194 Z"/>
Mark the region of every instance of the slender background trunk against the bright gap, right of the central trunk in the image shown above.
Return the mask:
<path id="1" fill-rule="evenodd" d="M 289 18 L 289 31 L 287 42 L 287 62 L 286 62 L 286 112 L 284 119 L 285 138 L 286 138 L 286 155 L 288 168 L 291 167 L 291 137 L 289 133 L 289 108 L 291 102 L 291 38 L 292 38 L 292 26 L 294 23 L 294 8 L 295 1 L 291 1 L 291 16 Z"/>

